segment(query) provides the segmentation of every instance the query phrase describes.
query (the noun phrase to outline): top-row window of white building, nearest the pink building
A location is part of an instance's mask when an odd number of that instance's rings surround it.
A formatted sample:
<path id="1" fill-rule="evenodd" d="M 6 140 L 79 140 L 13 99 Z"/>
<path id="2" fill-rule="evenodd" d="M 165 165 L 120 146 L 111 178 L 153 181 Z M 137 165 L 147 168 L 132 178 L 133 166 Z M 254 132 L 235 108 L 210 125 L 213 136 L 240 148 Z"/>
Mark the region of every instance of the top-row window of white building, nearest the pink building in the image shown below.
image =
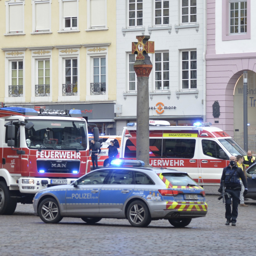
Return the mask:
<path id="1" fill-rule="evenodd" d="M 181 0 L 181 23 L 196 22 L 196 0 Z"/>

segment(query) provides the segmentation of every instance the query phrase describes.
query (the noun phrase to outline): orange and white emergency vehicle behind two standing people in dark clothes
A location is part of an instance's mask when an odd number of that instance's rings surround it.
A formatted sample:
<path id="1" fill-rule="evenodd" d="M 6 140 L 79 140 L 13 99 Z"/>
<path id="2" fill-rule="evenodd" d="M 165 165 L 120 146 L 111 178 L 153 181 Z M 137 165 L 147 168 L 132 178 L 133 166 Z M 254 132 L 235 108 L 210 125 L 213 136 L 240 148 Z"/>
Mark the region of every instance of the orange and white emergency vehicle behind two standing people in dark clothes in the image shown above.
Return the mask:
<path id="1" fill-rule="evenodd" d="M 118 155 L 116 156 L 116 159 L 119 158 L 119 152 L 120 152 L 120 145 L 121 145 L 121 138 L 122 136 L 116 136 L 116 135 L 99 135 L 99 142 L 100 142 L 100 154 L 98 155 L 98 166 L 99 167 L 108 167 L 108 146 L 110 145 L 110 141 L 114 141 L 114 146 L 116 146 L 118 150 Z M 91 143 L 91 140 L 93 140 L 93 136 L 89 137 L 89 142 Z M 91 159 L 91 156 L 90 156 Z M 92 166 L 92 163 L 91 163 Z"/>

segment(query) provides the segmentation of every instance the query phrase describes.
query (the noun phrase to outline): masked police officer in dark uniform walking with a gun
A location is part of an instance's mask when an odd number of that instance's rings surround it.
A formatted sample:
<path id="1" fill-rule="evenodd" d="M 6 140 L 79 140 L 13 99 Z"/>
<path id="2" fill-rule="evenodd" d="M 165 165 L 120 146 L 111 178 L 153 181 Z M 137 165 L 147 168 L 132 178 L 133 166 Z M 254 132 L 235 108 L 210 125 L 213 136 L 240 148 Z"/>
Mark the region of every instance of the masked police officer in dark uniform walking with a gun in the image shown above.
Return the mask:
<path id="1" fill-rule="evenodd" d="M 220 179 L 220 188 L 218 191 L 222 193 L 222 189 L 225 189 L 225 206 L 227 219 L 225 225 L 236 226 L 236 218 L 238 215 L 237 206 L 239 204 L 239 197 L 241 191 L 240 178 L 244 184 L 244 196 L 247 194 L 247 181 L 244 176 L 244 172 L 236 165 L 236 156 L 230 156 L 229 165 L 223 169 Z M 224 181 L 224 187 L 223 187 Z M 232 212 L 231 212 L 231 199 L 232 199 Z"/>

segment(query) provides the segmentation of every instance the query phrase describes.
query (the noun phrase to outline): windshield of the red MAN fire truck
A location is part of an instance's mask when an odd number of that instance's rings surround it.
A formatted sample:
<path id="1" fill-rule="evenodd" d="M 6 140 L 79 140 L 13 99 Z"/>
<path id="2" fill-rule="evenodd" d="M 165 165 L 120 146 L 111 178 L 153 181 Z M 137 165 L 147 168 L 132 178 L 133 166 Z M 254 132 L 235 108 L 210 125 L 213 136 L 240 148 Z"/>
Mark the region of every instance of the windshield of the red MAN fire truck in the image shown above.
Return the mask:
<path id="1" fill-rule="evenodd" d="M 86 123 L 82 121 L 29 120 L 33 128 L 25 129 L 31 149 L 86 150 Z"/>

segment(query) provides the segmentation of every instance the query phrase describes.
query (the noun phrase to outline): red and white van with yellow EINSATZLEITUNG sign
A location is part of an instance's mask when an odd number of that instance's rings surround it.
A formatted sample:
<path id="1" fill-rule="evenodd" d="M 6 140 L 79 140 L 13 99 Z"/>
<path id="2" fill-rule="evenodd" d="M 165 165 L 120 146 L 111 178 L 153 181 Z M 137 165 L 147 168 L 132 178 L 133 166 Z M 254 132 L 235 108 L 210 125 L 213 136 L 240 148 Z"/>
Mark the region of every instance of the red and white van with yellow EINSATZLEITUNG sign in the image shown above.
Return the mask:
<path id="1" fill-rule="evenodd" d="M 136 159 L 136 123 L 122 133 L 120 159 Z M 149 122 L 149 165 L 187 172 L 200 185 L 219 185 L 230 156 L 246 152 L 235 140 L 211 123 L 170 126 L 167 121 Z M 140 159 L 139 159 L 140 160 Z"/>

